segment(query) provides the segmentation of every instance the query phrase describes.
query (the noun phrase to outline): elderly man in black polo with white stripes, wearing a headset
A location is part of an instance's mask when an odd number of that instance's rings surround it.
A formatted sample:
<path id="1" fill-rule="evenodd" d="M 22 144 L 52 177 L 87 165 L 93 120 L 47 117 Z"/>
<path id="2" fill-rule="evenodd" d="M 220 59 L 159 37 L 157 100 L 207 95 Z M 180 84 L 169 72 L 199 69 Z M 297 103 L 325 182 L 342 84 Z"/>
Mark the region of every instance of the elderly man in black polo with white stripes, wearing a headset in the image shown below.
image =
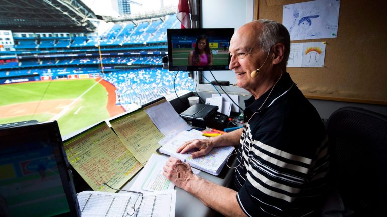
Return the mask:
<path id="1" fill-rule="evenodd" d="M 315 108 L 286 72 L 290 36 L 280 23 L 256 20 L 230 42 L 230 69 L 245 101 L 244 128 L 177 149 L 192 157 L 212 148 L 237 146 L 235 189 L 204 180 L 190 165 L 170 157 L 164 176 L 206 206 L 227 216 L 315 215 L 326 190 L 325 128 Z"/>

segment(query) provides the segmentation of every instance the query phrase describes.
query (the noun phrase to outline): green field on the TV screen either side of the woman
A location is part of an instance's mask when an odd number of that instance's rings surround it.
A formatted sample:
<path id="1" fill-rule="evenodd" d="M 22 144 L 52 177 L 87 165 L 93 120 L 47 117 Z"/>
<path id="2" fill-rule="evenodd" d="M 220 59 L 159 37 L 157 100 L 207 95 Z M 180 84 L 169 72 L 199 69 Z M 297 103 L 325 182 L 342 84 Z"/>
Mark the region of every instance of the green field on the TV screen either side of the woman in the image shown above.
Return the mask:
<path id="1" fill-rule="evenodd" d="M 172 59 L 174 66 L 187 66 L 188 55 L 192 49 L 174 48 L 172 50 Z M 212 49 L 214 50 L 214 49 Z M 218 49 L 218 54 L 215 54 L 212 60 L 212 65 L 228 65 L 228 51 Z"/>

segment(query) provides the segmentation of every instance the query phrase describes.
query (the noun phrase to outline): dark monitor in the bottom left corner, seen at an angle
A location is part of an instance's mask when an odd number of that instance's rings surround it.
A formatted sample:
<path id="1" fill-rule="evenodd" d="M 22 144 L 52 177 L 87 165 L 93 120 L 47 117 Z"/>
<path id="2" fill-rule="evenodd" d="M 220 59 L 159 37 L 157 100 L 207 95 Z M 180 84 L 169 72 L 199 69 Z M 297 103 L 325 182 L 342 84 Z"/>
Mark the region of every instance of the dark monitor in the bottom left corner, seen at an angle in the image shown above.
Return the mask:
<path id="1" fill-rule="evenodd" d="M 0 216 L 80 216 L 56 121 L 0 129 Z"/>

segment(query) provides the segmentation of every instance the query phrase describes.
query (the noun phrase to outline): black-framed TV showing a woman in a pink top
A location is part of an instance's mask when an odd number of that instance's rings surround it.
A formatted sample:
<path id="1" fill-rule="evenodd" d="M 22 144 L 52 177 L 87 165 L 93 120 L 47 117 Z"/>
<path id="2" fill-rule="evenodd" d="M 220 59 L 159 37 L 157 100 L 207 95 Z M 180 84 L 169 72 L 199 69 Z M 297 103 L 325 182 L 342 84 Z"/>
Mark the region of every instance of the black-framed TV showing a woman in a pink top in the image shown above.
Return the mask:
<path id="1" fill-rule="evenodd" d="M 167 29 L 169 71 L 229 70 L 233 28 Z"/>

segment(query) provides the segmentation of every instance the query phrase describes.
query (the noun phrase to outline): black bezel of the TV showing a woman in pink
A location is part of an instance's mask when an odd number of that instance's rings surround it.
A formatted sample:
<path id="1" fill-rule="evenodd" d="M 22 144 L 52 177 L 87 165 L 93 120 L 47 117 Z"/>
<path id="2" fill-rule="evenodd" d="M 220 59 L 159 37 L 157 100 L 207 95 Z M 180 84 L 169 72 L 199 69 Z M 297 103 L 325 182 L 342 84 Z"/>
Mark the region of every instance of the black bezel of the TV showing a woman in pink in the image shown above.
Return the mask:
<path id="1" fill-rule="evenodd" d="M 211 66 L 189 66 L 189 65 L 173 65 L 172 59 L 172 36 L 175 35 L 207 35 L 212 36 L 225 36 L 231 40 L 232 35 L 234 34 L 234 28 L 198 28 L 198 29 L 167 29 L 167 40 L 168 40 L 168 68 L 169 71 L 223 71 L 230 70 L 228 65 L 211 65 Z M 230 63 L 230 57 L 228 58 L 228 63 Z"/>

